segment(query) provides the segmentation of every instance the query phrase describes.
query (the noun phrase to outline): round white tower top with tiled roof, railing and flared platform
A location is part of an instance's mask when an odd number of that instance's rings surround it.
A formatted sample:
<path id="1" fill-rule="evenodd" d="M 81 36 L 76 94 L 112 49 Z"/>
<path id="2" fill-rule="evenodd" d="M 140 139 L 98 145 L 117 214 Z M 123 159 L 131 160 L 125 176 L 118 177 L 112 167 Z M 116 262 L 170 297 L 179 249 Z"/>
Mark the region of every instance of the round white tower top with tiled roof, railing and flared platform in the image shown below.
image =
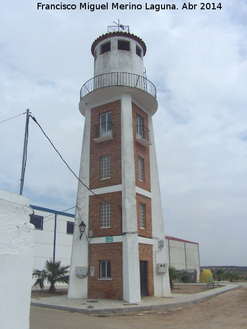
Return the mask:
<path id="1" fill-rule="evenodd" d="M 112 97 L 116 92 L 126 92 L 126 87 L 134 99 L 155 114 L 158 109 L 156 88 L 143 69 L 146 50 L 140 37 L 123 31 L 110 32 L 93 41 L 94 76 L 81 89 L 79 109 L 82 115 L 88 103 Z"/>

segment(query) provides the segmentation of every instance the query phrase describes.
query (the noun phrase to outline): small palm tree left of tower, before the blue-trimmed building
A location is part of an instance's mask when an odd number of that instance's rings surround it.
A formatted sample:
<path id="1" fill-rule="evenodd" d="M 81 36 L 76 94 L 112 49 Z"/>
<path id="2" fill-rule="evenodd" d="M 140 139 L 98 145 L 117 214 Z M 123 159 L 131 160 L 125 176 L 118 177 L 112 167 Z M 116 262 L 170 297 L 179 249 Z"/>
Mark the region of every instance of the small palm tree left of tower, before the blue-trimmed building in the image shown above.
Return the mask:
<path id="1" fill-rule="evenodd" d="M 41 271 L 37 269 L 33 271 L 33 278 L 36 278 L 33 287 L 44 289 L 44 282 L 47 280 L 50 284 L 49 292 L 55 292 L 56 283 L 69 283 L 69 267 L 69 265 L 61 266 L 61 260 L 46 259 L 44 268 Z"/>

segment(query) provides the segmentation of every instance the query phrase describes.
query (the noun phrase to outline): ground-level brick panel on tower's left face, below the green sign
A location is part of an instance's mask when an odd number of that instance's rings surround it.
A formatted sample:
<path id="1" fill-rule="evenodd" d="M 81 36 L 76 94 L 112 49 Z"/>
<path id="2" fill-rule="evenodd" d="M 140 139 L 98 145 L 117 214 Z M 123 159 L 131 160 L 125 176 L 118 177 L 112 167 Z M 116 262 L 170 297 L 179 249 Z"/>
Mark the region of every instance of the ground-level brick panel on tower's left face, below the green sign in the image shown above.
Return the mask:
<path id="1" fill-rule="evenodd" d="M 111 260 L 111 280 L 99 280 L 100 260 Z M 88 273 L 88 297 L 123 299 L 122 242 L 92 244 L 90 266 L 94 266 L 94 277 Z"/>

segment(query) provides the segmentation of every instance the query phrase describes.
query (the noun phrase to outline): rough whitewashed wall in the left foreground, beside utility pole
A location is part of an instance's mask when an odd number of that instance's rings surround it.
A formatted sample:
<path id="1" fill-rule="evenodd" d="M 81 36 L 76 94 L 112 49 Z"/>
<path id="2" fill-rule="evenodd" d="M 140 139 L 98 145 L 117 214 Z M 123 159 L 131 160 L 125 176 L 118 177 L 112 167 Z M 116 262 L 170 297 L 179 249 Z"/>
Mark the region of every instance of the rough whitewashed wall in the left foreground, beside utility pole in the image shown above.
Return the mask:
<path id="1" fill-rule="evenodd" d="M 29 198 L 0 190 L 0 328 L 29 328 L 34 225 Z"/>

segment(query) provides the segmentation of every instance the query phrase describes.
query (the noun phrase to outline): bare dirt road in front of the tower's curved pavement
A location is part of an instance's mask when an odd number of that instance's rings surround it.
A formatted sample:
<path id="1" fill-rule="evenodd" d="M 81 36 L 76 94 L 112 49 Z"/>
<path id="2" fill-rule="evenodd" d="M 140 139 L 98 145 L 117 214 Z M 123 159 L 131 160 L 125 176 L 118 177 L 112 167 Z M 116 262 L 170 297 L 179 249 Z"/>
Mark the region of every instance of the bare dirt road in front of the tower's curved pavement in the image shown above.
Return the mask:
<path id="1" fill-rule="evenodd" d="M 181 293 L 181 291 L 178 293 Z M 225 292 L 191 306 L 151 313 L 88 316 L 31 307 L 30 329 L 77 329 L 82 328 L 82 324 L 83 328 L 90 329 L 98 329 L 99 327 L 103 329 L 163 327 L 174 329 L 247 328 L 247 288 L 242 287 L 234 291 Z"/>

